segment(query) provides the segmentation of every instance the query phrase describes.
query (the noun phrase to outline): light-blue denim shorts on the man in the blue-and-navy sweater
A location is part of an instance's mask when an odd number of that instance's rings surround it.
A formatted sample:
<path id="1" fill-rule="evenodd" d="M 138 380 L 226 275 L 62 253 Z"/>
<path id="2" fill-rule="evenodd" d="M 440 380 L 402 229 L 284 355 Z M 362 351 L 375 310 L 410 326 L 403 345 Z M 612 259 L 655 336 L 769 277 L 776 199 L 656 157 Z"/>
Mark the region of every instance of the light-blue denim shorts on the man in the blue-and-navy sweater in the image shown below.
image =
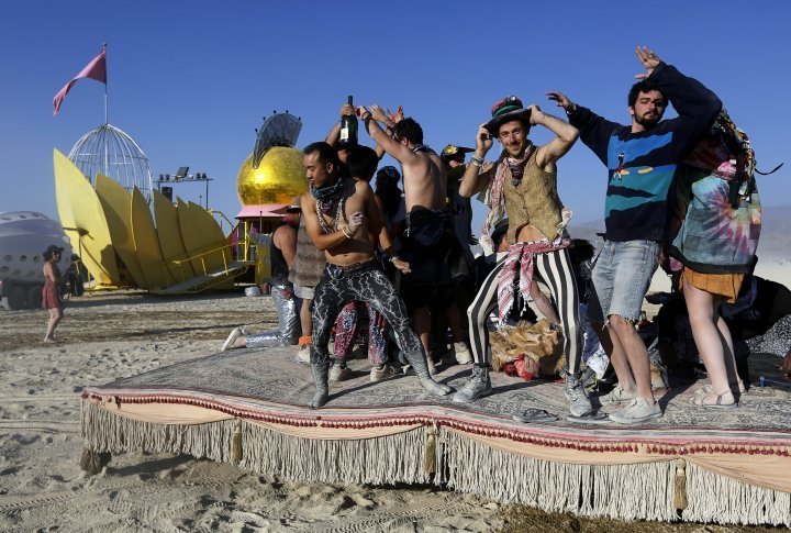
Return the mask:
<path id="1" fill-rule="evenodd" d="M 643 298 L 659 266 L 659 249 L 654 241 L 604 241 L 591 273 L 591 322 L 604 323 L 612 314 L 639 320 Z"/>

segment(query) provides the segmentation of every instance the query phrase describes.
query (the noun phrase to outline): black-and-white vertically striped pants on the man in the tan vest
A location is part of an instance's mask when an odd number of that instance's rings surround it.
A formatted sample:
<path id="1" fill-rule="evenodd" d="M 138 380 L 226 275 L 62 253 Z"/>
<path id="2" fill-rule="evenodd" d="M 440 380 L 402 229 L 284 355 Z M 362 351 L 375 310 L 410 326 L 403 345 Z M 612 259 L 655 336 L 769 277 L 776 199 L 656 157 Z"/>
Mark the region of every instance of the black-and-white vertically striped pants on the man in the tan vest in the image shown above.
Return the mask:
<path id="1" fill-rule="evenodd" d="M 486 322 L 489 315 L 498 308 L 498 278 L 504 262 L 505 255 L 498 260 L 494 269 L 483 280 L 483 285 L 476 295 L 475 300 L 467 309 L 470 347 L 472 348 L 472 357 L 479 366 L 491 365 L 489 329 Z M 577 293 L 577 284 L 571 269 L 568 248 L 536 254 L 534 265 L 535 273 L 549 287 L 558 317 L 560 317 L 560 325 L 564 331 L 566 370 L 569 374 L 576 374 L 579 371 L 582 358 L 582 327 L 579 319 L 579 295 Z M 534 284 L 536 278 L 537 276 L 533 279 Z"/>

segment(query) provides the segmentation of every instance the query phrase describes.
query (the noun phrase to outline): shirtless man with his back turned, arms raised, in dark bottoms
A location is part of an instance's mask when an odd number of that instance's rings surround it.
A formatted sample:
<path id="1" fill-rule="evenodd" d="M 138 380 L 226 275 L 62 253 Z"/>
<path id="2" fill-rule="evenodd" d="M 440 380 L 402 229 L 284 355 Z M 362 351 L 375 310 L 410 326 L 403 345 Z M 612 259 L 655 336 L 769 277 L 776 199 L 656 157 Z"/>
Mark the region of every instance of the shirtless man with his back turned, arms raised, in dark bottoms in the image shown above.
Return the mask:
<path id="1" fill-rule="evenodd" d="M 445 166 L 439 156 L 423 144 L 423 130 L 414 119 L 392 123 L 378 106 L 371 106 L 370 110 L 360 107 L 357 111 L 371 140 L 398 159 L 403 169 L 406 231 L 401 256 L 412 273 L 401 278 L 401 293 L 412 312 L 423 349 L 430 353 L 430 307 L 437 304 L 445 312 L 455 349 L 466 351 L 461 313 L 454 297 L 456 281 L 469 276 L 469 265 L 446 209 Z M 387 124 L 393 136 L 378 122 Z M 433 370 L 431 360 L 430 365 Z"/>

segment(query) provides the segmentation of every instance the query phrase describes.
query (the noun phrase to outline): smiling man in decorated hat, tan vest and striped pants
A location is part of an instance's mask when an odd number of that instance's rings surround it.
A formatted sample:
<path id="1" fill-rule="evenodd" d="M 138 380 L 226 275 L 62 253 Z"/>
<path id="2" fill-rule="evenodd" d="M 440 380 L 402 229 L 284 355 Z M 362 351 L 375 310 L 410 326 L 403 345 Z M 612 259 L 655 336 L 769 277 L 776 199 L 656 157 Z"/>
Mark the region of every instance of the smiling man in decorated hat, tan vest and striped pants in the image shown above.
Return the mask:
<path id="1" fill-rule="evenodd" d="M 527 134 L 539 124 L 556 136 L 544 146 L 535 146 Z M 495 136 L 503 151 L 493 165 L 483 158 Z M 579 297 L 568 254 L 570 244 L 566 224 L 571 213 L 557 192 L 557 160 L 575 144 L 577 130 L 537 106 L 524 108 L 516 97 L 508 97 L 492 107 L 492 119 L 481 124 L 476 136 L 476 151 L 461 180 L 459 192 L 470 197 L 484 191 L 490 212 L 481 230 L 481 244 L 491 252 L 489 227 L 508 213 L 508 255 L 487 276 L 475 301 L 467 310 L 470 344 L 475 356 L 471 379 L 454 401 L 469 402 L 491 392 L 489 369 L 491 349 L 486 320 L 497 307 L 500 319 L 509 314 L 522 293 L 532 298 L 538 310 L 564 332 L 566 354 L 566 398 L 575 417 L 591 412 L 580 381 L 582 355 L 579 324 Z M 533 271 L 549 287 L 557 309 L 533 282 Z M 515 417 L 521 417 L 515 414 Z"/>

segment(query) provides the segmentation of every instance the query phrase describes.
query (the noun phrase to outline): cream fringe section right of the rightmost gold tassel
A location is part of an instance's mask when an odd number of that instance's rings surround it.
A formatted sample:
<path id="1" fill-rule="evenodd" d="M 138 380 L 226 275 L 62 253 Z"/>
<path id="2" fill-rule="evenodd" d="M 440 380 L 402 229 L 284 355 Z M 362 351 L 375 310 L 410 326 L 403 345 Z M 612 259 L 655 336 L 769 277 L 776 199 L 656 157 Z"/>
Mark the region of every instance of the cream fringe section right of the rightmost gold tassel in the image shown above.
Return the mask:
<path id="1" fill-rule="evenodd" d="M 683 520 L 791 528 L 791 493 L 765 489 L 687 464 Z"/>

